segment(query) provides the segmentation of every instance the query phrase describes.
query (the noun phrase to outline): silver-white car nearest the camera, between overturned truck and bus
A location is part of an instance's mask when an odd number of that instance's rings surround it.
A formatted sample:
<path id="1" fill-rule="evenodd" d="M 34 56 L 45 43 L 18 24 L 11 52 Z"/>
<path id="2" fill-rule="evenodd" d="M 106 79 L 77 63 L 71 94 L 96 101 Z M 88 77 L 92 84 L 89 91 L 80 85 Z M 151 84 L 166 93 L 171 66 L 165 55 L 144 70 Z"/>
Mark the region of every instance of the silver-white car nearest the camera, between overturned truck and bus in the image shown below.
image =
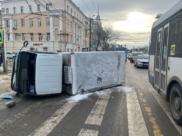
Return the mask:
<path id="1" fill-rule="evenodd" d="M 143 54 L 138 55 L 134 60 L 134 66 L 138 67 L 148 67 L 149 66 L 149 55 Z"/>

